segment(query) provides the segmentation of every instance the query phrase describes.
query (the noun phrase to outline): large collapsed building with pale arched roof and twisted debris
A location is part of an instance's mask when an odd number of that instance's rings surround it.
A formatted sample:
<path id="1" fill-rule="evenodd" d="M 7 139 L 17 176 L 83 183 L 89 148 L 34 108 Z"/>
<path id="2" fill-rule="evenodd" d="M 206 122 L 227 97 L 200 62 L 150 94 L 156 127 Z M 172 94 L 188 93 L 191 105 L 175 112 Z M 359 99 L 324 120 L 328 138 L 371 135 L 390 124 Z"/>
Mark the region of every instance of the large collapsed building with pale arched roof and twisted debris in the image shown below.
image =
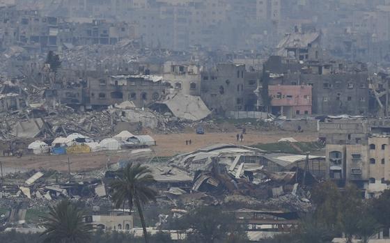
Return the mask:
<path id="1" fill-rule="evenodd" d="M 313 185 L 324 178 L 326 169 L 325 157 L 272 154 L 230 144 L 215 144 L 177 155 L 168 164 L 170 169 L 153 168 L 157 184 L 166 185 L 163 179 L 160 182 L 158 178 L 175 179 L 171 187 L 164 186 L 166 191 L 173 193 L 180 189 L 180 194 L 185 191 L 202 191 L 218 195 L 226 190 L 256 198 L 285 194 L 281 187 L 286 182 L 292 185 L 301 182 Z M 307 174 L 306 179 L 302 179 L 303 174 Z M 192 178 L 191 186 L 189 178 Z M 290 190 L 287 187 L 285 189 Z"/>

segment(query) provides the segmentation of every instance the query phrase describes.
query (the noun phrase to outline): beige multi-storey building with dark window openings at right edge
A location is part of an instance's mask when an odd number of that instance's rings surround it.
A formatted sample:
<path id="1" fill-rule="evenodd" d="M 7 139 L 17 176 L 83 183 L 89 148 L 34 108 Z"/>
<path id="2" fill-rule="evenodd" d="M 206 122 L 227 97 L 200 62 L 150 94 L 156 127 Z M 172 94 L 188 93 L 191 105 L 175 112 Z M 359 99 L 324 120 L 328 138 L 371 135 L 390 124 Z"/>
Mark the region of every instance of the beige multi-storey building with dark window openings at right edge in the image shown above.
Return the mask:
<path id="1" fill-rule="evenodd" d="M 371 135 L 366 143 L 327 144 L 327 178 L 343 187 L 352 182 L 367 198 L 390 184 L 390 136 Z"/>

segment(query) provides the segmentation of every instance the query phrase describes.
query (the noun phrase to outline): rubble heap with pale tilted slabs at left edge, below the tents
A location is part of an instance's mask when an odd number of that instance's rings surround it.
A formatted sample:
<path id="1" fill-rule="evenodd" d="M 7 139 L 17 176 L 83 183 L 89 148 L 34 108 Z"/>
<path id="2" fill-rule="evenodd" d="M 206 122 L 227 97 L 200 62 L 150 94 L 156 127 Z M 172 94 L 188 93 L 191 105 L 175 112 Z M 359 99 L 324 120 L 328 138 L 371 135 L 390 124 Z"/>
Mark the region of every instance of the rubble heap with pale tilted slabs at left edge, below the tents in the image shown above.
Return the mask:
<path id="1" fill-rule="evenodd" d="M 10 208 L 18 203 L 26 203 L 29 209 L 45 210 L 63 198 L 83 198 L 86 205 L 109 207 L 111 203 L 102 174 L 72 174 L 69 181 L 69 175 L 57 171 L 10 173 L 3 179 L 0 207 Z"/>

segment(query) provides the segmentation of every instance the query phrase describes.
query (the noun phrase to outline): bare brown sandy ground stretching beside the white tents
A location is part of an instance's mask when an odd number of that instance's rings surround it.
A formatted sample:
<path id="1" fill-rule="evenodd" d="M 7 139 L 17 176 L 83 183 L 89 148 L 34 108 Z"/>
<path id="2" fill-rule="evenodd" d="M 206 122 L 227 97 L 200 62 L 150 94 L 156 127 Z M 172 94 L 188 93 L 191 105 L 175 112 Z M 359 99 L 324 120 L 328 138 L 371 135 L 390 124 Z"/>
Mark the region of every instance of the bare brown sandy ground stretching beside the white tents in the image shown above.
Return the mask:
<path id="1" fill-rule="evenodd" d="M 237 132 L 208 133 L 198 135 L 194 133 L 183 134 L 150 134 L 157 141 L 153 147 L 155 155 L 170 157 L 180 152 L 189 152 L 214 143 L 237 143 L 245 146 L 256 143 L 273 143 L 283 137 L 293 137 L 297 141 L 315 141 L 317 133 L 292 133 L 283 131 L 272 132 L 248 132 L 244 135 L 243 142 L 236 141 Z M 186 145 L 185 141 L 191 139 L 192 145 Z M 125 159 L 130 151 L 118 152 L 94 152 L 88 154 L 69 155 L 71 171 L 86 171 L 104 168 L 106 164 L 113 164 L 120 159 Z M 24 155 L 23 157 L 0 157 L 3 166 L 11 171 L 13 169 L 29 170 L 39 168 L 53 168 L 58 171 L 68 171 L 68 155 Z"/>

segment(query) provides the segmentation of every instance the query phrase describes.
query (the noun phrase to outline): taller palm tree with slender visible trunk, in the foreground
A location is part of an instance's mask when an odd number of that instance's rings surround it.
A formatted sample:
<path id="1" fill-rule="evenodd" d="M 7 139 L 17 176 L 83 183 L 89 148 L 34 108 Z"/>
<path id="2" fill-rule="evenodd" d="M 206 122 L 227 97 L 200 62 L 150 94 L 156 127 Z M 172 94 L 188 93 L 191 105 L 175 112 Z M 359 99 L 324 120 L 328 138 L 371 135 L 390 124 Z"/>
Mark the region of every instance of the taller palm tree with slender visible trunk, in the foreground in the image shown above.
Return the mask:
<path id="1" fill-rule="evenodd" d="M 142 206 L 150 201 L 155 201 L 157 192 L 150 188 L 153 182 L 155 182 L 155 179 L 148 167 L 141 166 L 138 163 L 130 163 L 121 171 L 118 179 L 111 183 L 111 188 L 114 190 L 112 200 L 117 208 L 125 207 L 127 202 L 129 214 L 131 214 L 133 203 L 137 206 L 146 243 L 148 243 L 148 236 Z"/>

